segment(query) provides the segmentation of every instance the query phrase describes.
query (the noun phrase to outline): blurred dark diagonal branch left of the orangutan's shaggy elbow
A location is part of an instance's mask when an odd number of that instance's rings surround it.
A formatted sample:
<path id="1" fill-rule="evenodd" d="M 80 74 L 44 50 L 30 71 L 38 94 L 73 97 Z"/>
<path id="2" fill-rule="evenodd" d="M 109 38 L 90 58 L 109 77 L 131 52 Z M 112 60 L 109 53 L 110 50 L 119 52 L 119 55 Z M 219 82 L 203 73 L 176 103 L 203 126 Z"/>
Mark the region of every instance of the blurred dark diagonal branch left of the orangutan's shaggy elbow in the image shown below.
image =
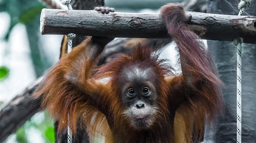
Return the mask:
<path id="1" fill-rule="evenodd" d="M 0 143 L 11 133 L 15 132 L 28 119 L 30 119 L 41 105 L 41 99 L 33 100 L 35 88 L 41 81 L 38 78 L 35 83 L 27 87 L 23 93 L 13 98 L 0 111 Z"/>

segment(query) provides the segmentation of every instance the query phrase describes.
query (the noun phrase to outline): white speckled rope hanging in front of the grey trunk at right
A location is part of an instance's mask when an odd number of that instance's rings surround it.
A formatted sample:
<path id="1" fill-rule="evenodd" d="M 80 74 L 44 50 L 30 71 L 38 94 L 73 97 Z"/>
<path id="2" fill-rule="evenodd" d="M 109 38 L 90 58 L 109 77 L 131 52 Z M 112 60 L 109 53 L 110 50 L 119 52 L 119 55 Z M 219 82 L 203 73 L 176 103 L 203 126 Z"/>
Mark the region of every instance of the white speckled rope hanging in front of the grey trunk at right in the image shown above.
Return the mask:
<path id="1" fill-rule="evenodd" d="M 239 16 L 249 8 L 251 0 L 241 0 L 238 4 Z M 236 68 L 236 143 L 242 143 L 242 38 L 234 40 L 237 46 L 237 68 Z"/>

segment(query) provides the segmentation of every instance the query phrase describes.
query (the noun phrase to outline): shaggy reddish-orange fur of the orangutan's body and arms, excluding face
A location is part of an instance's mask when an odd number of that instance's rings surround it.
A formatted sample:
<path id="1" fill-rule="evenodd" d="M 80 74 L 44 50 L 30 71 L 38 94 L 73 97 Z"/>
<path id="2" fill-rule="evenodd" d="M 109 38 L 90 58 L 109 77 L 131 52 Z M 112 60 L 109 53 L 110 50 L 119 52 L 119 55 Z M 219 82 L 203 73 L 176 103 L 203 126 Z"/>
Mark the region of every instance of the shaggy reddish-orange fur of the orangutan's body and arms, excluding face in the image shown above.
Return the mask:
<path id="1" fill-rule="evenodd" d="M 50 70 L 35 93 L 43 94 L 42 107 L 56 120 L 59 130 L 67 127 L 67 115 L 76 134 L 78 120 L 90 135 L 100 133 L 105 142 L 182 143 L 199 142 L 204 124 L 214 121 L 223 107 L 221 81 L 209 53 L 200 39 L 187 27 L 188 18 L 181 4 L 161 9 L 168 33 L 178 44 L 182 75 L 141 47 L 131 55 L 119 54 L 111 62 L 94 69 L 108 40 L 87 38 L 71 53 L 63 56 Z M 152 67 L 157 80 L 157 121 L 148 130 L 136 130 L 122 116 L 120 81 L 124 67 L 138 64 Z M 91 74 L 94 73 L 94 74 Z M 100 82 L 110 78 L 108 82 Z M 93 119 L 93 120 L 92 120 Z"/>

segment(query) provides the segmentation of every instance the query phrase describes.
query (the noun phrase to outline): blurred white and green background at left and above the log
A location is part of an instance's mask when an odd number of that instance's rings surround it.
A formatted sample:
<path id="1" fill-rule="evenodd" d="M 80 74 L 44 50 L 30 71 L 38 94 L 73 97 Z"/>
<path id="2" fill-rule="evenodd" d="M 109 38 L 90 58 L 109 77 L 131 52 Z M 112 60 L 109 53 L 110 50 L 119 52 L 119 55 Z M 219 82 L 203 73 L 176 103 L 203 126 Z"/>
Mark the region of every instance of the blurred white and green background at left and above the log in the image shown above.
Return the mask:
<path id="1" fill-rule="evenodd" d="M 105 5 L 119 12 L 157 13 L 168 2 L 182 0 L 105 0 Z M 63 36 L 40 34 L 42 8 L 49 8 L 42 0 L 0 0 L 0 109 L 59 59 Z M 54 122 L 39 112 L 4 142 L 53 143 Z"/>

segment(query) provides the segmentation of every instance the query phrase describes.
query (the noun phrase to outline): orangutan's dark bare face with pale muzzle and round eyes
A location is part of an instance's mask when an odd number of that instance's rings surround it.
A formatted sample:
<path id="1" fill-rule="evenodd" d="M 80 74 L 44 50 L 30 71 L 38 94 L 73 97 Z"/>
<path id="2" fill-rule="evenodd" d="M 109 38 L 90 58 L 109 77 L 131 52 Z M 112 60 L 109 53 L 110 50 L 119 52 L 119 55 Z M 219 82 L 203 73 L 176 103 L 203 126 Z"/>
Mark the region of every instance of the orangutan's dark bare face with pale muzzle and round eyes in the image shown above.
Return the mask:
<path id="1" fill-rule="evenodd" d="M 138 130 L 150 128 L 155 122 L 153 115 L 157 112 L 154 72 L 151 68 L 134 65 L 124 69 L 124 81 L 124 116 Z"/>

